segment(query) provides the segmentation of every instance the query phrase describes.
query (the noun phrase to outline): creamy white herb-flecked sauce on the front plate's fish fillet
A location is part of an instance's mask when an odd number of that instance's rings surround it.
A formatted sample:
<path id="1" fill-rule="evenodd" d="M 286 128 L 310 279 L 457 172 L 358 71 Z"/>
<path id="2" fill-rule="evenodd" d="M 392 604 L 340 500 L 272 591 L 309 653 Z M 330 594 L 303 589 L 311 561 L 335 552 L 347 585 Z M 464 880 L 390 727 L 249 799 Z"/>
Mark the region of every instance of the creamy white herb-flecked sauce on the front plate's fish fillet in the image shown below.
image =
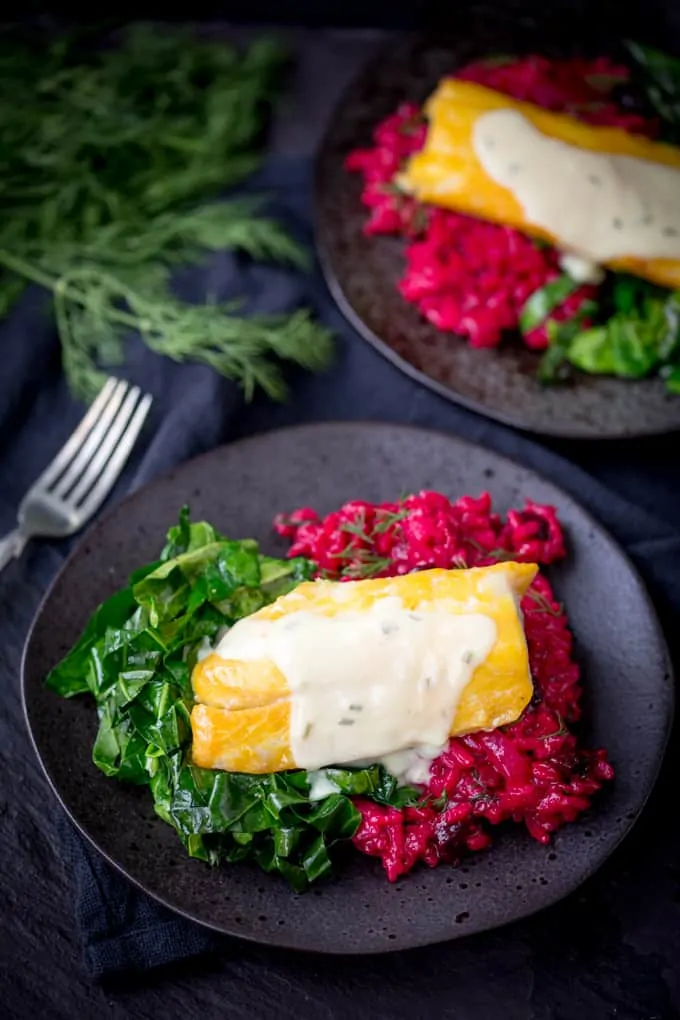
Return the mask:
<path id="1" fill-rule="evenodd" d="M 487 615 L 431 606 L 414 612 L 389 596 L 365 612 L 345 609 L 338 599 L 334 616 L 302 611 L 274 620 L 247 617 L 226 633 L 217 654 L 269 659 L 285 676 L 291 749 L 300 768 L 414 751 L 398 771 L 424 781 L 447 743 L 460 697 L 495 638 Z"/>

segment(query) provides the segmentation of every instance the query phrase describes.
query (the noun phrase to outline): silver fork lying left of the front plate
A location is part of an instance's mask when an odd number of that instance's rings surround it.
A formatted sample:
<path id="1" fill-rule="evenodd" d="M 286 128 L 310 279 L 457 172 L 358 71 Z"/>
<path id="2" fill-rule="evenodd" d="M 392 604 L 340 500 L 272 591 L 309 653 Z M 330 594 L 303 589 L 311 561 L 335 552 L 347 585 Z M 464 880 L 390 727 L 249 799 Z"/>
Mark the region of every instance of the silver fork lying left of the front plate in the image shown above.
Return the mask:
<path id="1" fill-rule="evenodd" d="M 151 397 L 109 378 L 70 439 L 21 500 L 17 526 L 0 540 L 0 570 L 30 539 L 64 539 L 99 510 L 129 457 Z"/>

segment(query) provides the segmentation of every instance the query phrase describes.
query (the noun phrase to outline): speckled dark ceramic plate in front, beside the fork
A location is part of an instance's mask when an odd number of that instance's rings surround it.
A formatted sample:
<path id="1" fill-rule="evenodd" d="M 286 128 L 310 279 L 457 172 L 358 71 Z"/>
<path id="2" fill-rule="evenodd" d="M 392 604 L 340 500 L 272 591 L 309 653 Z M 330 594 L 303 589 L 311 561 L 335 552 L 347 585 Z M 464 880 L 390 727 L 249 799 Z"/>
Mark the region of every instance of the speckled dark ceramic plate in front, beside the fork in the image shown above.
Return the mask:
<path id="1" fill-rule="evenodd" d="M 154 816 L 147 790 L 107 779 L 91 761 L 96 729 L 88 698 L 63 701 L 43 679 L 103 599 L 152 560 L 178 508 L 223 532 L 252 536 L 281 554 L 271 520 L 309 504 L 394 499 L 437 489 L 489 489 L 500 509 L 530 497 L 555 504 L 571 556 L 556 568 L 587 683 L 586 736 L 617 768 L 590 815 L 544 848 L 524 832 L 499 834 L 463 868 L 422 868 L 390 885 L 379 863 L 349 855 L 332 881 L 295 896 L 247 866 L 190 860 Z M 168 907 L 233 935 L 325 953 L 381 953 L 491 928 L 546 907 L 591 874 L 630 828 L 655 781 L 672 710 L 670 667 L 635 571 L 612 539 L 564 493 L 481 448 L 437 432 L 379 424 L 324 424 L 222 447 L 140 490 L 97 523 L 47 595 L 23 661 L 25 712 L 57 796 L 93 844 Z"/>

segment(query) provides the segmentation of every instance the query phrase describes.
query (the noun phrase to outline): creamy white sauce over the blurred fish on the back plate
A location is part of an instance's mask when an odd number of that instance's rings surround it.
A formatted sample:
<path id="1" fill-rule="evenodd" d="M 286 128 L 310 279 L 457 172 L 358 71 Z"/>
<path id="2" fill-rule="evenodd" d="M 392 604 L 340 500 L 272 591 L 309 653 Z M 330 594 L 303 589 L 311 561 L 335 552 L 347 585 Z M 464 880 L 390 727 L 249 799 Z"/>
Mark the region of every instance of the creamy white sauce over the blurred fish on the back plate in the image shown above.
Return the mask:
<path id="1" fill-rule="evenodd" d="M 680 258 L 680 170 L 548 138 L 516 110 L 478 117 L 473 147 L 528 222 L 591 262 Z"/>

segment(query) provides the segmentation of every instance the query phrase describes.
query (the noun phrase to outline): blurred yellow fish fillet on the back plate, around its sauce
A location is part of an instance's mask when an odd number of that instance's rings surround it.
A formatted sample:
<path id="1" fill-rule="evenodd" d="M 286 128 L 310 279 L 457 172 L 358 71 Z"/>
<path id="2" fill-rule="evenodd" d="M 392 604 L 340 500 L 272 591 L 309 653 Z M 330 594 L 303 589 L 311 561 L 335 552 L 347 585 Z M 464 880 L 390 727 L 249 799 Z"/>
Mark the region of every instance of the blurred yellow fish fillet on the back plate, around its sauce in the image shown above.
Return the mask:
<path id="1" fill-rule="evenodd" d="M 475 153 L 475 122 L 493 110 L 514 110 L 541 134 L 580 149 L 632 156 L 680 169 L 680 149 L 675 146 L 651 142 L 619 128 L 593 128 L 472 82 L 444 79 L 425 106 L 429 120 L 425 146 L 409 160 L 399 177 L 401 186 L 423 202 L 514 226 L 559 248 L 561 239 L 528 222 L 513 193 L 486 173 Z M 680 261 L 676 259 L 625 257 L 608 264 L 664 287 L 680 287 Z"/>

